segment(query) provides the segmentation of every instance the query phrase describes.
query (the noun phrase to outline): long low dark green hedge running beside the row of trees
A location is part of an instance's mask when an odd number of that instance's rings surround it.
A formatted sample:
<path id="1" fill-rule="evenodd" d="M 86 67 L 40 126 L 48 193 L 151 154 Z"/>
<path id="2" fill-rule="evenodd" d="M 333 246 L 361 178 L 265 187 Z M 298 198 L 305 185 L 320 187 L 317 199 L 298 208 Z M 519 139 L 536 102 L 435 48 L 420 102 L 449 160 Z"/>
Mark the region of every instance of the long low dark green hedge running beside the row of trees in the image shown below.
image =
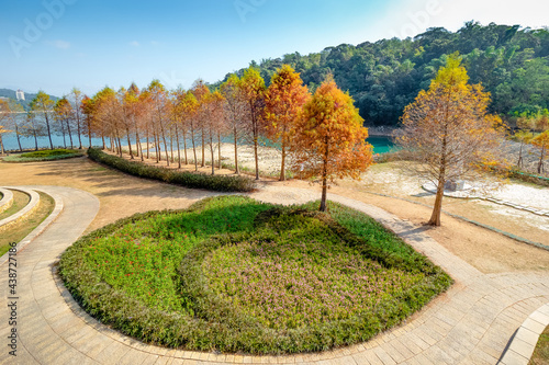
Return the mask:
<path id="1" fill-rule="evenodd" d="M 254 180 L 246 176 L 180 172 L 161 167 L 146 166 L 142 162 L 127 161 L 97 148 L 89 149 L 88 157 L 93 161 L 137 178 L 158 180 L 184 187 L 205 189 L 215 192 L 250 192 L 255 189 Z"/>

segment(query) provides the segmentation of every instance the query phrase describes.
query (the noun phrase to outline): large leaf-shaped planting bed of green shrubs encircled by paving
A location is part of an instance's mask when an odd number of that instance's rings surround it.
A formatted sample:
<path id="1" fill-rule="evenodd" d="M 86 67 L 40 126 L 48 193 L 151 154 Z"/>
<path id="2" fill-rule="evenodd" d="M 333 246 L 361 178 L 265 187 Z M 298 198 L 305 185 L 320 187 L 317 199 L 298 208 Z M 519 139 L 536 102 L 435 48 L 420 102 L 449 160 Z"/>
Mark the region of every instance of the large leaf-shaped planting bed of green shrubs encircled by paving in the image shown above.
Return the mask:
<path id="1" fill-rule="evenodd" d="M 371 218 L 312 206 L 225 196 L 137 215 L 80 239 L 59 273 L 88 312 L 126 334 L 255 354 L 366 341 L 451 284 Z"/>

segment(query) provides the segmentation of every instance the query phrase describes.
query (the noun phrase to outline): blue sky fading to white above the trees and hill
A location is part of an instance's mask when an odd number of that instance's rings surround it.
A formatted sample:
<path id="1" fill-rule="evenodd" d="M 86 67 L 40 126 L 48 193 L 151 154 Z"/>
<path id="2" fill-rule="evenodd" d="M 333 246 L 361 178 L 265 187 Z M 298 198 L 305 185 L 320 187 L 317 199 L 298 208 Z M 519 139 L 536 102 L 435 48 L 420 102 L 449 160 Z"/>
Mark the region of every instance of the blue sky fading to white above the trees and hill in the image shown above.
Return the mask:
<path id="1" fill-rule="evenodd" d="M 549 25 L 549 1 L 0 0 L 0 88 L 93 94 L 160 79 L 189 88 L 255 59 L 406 37 L 466 21 Z"/>

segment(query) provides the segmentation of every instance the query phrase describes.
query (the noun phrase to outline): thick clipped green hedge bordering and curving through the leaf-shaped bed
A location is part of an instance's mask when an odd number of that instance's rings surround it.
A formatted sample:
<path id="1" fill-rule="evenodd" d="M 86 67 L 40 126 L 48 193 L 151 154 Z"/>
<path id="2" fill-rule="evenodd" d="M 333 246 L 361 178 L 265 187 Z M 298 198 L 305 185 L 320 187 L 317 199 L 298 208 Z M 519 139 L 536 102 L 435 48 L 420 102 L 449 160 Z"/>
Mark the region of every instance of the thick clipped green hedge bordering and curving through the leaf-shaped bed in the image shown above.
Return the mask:
<path id="1" fill-rule="evenodd" d="M 401 322 L 451 285 L 451 278 L 438 266 L 371 218 L 333 203 L 328 205 L 330 212 L 334 212 L 330 217 L 312 212 L 312 207 L 316 206 L 317 204 L 311 204 L 310 207 L 276 208 L 249 198 L 231 196 L 204 199 L 184 212 L 136 215 L 81 238 L 63 254 L 59 273 L 69 292 L 85 310 L 123 333 L 170 347 L 253 354 L 315 352 L 366 341 Z M 229 217 L 227 221 L 224 218 L 228 212 L 242 213 Z M 172 215 L 179 215 L 181 218 L 166 220 Z M 186 215 L 190 216 L 186 218 Z M 202 215 L 205 215 L 204 219 L 201 218 Z M 238 217 L 246 217 L 248 221 L 251 218 L 253 225 L 242 221 Z M 397 288 L 395 294 L 379 303 L 373 310 L 356 312 L 343 320 L 281 331 L 266 327 L 256 318 L 237 311 L 226 299 L 220 297 L 219 293 L 209 287 L 204 272 L 208 269 L 203 265 L 204 258 L 223 247 L 235 246 L 250 239 L 277 240 L 279 232 L 282 232 L 280 229 L 287 229 L 289 235 L 294 235 L 292 227 L 302 220 L 293 217 L 318 220 L 332 232 L 329 235 L 340 239 L 341 244 L 359 252 L 360 255 L 374 260 L 388 269 L 396 267 L 406 273 L 418 273 L 424 278 L 414 285 Z M 139 223 L 145 220 L 147 221 L 145 226 L 157 226 L 160 230 L 154 227 L 150 232 L 139 231 L 138 239 L 124 235 L 128 232 L 128 228 L 142 229 Z M 201 221 L 200 226 L 195 227 L 195 233 L 192 233 L 193 226 L 187 226 L 191 221 Z M 239 226 L 234 227 L 237 223 Z M 201 227 L 206 224 L 208 227 L 211 226 L 211 230 L 204 236 L 203 231 L 206 228 Z M 363 228 L 365 225 L 369 227 Z M 187 228 L 178 232 L 177 227 Z M 221 235 L 213 233 L 217 231 Z M 357 236 L 358 232 L 362 236 Z M 189 240 L 191 235 L 197 235 L 197 239 L 189 241 L 187 235 Z M 313 236 L 317 237 L 318 232 L 315 235 Z M 156 253 L 158 258 L 152 259 L 164 259 L 169 255 L 169 252 L 165 251 L 166 246 L 159 241 L 164 240 L 165 236 L 176 237 L 175 242 L 181 241 L 180 244 L 190 248 L 190 251 L 183 253 L 182 262 L 171 276 L 179 287 L 177 297 L 182 307 L 178 311 L 169 310 L 164 305 L 147 305 L 144 300 L 139 300 L 135 293 L 119 285 L 122 277 L 115 275 L 112 281 L 102 278 L 97 266 L 90 262 L 90 258 L 101 255 L 101 252 L 97 251 L 100 248 L 98 241 L 105 237 L 123 240 L 122 249 L 127 252 L 127 256 L 119 256 L 133 260 L 130 259 L 131 252 L 126 251 L 126 248 L 149 244 L 154 250 L 158 249 Z M 147 243 L 148 239 L 154 241 Z M 155 240 L 158 240 L 158 243 Z M 373 244 L 373 240 L 384 242 Z M 145 265 L 147 262 L 145 261 Z M 122 265 L 122 262 L 117 263 Z M 147 267 L 146 270 L 159 273 L 154 266 Z"/>

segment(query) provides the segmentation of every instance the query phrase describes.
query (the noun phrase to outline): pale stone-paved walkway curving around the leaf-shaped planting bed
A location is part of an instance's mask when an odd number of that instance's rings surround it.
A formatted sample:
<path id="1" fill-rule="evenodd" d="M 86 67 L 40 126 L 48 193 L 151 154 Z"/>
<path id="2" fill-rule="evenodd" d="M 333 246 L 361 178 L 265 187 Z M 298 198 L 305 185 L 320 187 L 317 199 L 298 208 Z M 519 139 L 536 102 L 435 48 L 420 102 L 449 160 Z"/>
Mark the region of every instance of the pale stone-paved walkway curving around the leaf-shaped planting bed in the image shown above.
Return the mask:
<path id="1" fill-rule="evenodd" d="M 482 274 L 423 233 L 421 227 L 371 205 L 330 195 L 330 199 L 358 208 L 393 229 L 442 266 L 456 284 L 401 327 L 367 343 L 321 354 L 239 356 L 147 345 L 85 313 L 54 274 L 60 253 L 96 216 L 98 199 L 74 189 L 42 190 L 63 199 L 64 210 L 16 255 L 16 357 L 8 353 L 8 265 L 0 266 L 1 364 L 496 364 L 514 332 L 531 312 L 549 303 L 549 273 Z M 306 190 L 269 186 L 251 196 L 278 203 L 317 198 Z M 516 360 L 525 361 L 519 352 Z"/>

